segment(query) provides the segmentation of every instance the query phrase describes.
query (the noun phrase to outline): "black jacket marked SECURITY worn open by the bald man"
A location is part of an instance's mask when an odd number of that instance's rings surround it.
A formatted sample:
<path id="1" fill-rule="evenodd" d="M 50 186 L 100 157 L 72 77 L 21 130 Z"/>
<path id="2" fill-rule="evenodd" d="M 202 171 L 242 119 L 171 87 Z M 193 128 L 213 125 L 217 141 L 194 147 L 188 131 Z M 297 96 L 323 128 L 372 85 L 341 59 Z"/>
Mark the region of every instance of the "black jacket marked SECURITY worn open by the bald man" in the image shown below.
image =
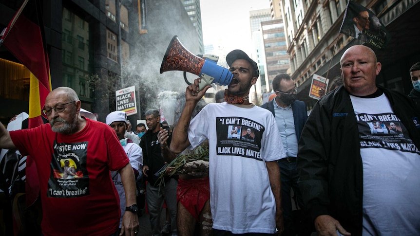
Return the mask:
<path id="1" fill-rule="evenodd" d="M 379 86 L 378 86 L 379 87 Z M 405 95 L 379 87 L 394 113 L 420 147 L 420 113 Z M 352 236 L 362 235 L 363 163 L 359 130 L 349 93 L 343 86 L 319 100 L 311 111 L 298 149 L 299 186 L 311 217 L 330 215 Z"/>

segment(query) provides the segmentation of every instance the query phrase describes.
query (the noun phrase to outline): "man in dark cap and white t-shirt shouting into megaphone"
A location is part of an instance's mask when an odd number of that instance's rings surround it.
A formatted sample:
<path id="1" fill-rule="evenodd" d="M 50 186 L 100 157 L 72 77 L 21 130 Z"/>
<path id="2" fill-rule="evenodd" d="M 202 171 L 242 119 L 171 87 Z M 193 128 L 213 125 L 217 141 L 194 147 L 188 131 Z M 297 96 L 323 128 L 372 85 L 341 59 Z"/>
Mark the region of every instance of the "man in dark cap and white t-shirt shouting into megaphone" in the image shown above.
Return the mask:
<path id="1" fill-rule="evenodd" d="M 226 61 L 233 78 L 225 90 L 225 102 L 208 104 L 191 120 L 197 102 L 211 87 L 200 91 L 200 78 L 195 79 L 187 87 L 185 108 L 172 132 L 170 149 L 180 153 L 209 140 L 210 207 L 215 236 L 280 235 L 283 216 L 277 160 L 286 157 L 280 132 L 271 112 L 249 103 L 249 90 L 259 76 L 257 63 L 241 50 L 230 52 Z M 229 135 L 234 127 L 238 130 L 235 139 Z M 254 137 L 252 142 L 241 139 L 248 129 Z M 160 135 L 166 137 L 168 132 L 162 130 Z"/>

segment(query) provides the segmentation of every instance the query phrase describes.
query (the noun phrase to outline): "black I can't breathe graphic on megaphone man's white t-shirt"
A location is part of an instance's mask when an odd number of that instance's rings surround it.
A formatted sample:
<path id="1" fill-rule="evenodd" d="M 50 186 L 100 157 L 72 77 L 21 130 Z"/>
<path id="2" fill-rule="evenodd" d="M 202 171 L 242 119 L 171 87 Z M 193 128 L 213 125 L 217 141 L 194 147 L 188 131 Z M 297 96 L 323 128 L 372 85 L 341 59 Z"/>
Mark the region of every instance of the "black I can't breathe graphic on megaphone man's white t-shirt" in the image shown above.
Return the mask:
<path id="1" fill-rule="evenodd" d="M 242 156 L 262 161 L 261 138 L 265 128 L 242 117 L 217 117 L 217 155 Z"/>

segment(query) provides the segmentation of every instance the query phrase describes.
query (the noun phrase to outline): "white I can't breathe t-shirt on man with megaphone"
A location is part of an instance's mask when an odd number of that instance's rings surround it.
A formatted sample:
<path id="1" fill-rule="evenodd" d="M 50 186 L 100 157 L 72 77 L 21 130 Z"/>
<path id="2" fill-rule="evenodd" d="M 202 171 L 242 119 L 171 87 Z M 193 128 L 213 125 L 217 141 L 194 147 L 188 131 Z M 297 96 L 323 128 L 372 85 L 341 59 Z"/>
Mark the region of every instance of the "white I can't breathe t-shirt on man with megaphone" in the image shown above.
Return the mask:
<path id="1" fill-rule="evenodd" d="M 232 127 L 241 130 L 232 137 Z M 242 140 L 251 129 L 253 139 Z M 209 139 L 213 228 L 233 234 L 275 233 L 275 200 L 265 162 L 286 157 L 274 116 L 260 107 L 208 104 L 191 121 L 195 147 Z"/>

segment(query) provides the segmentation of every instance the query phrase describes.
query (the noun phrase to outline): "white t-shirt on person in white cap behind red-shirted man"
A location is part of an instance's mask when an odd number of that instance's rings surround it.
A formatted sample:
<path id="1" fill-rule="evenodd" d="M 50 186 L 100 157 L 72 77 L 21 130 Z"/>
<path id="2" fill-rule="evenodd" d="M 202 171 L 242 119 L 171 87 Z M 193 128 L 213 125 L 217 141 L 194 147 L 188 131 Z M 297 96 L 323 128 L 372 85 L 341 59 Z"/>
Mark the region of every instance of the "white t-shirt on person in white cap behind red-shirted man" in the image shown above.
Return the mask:
<path id="1" fill-rule="evenodd" d="M 136 170 L 139 170 L 141 166 L 143 166 L 143 152 L 139 145 L 135 143 L 127 143 L 126 145 L 122 146 L 124 148 L 125 153 L 130 159 L 131 167 Z M 119 227 L 121 228 L 122 217 L 125 213 L 125 191 L 124 186 L 122 185 L 121 176 L 118 171 L 112 171 L 111 177 L 114 182 L 115 188 L 118 191 L 119 196 L 119 207 L 121 209 L 121 218 L 119 219 Z"/>

